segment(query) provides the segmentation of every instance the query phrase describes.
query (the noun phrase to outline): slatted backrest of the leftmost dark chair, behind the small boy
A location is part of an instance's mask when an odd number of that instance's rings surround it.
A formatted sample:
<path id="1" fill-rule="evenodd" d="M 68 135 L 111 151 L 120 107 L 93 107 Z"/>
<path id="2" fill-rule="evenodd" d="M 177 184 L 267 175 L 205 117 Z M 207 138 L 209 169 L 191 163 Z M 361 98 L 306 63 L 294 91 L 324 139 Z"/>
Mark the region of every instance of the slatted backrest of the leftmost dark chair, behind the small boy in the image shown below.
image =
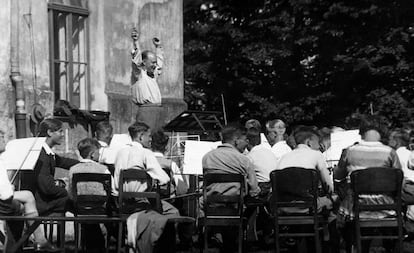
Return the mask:
<path id="1" fill-rule="evenodd" d="M 84 188 L 87 191 L 86 193 L 84 193 L 83 191 L 79 191 L 80 183 L 84 184 L 82 188 Z M 111 214 L 111 210 L 110 210 L 111 175 L 110 174 L 75 173 L 73 174 L 73 177 L 72 177 L 72 189 L 71 190 L 72 190 L 76 215 L 110 215 Z M 99 191 L 99 193 L 97 193 L 96 191 Z M 104 193 L 104 195 L 100 193 Z"/>

